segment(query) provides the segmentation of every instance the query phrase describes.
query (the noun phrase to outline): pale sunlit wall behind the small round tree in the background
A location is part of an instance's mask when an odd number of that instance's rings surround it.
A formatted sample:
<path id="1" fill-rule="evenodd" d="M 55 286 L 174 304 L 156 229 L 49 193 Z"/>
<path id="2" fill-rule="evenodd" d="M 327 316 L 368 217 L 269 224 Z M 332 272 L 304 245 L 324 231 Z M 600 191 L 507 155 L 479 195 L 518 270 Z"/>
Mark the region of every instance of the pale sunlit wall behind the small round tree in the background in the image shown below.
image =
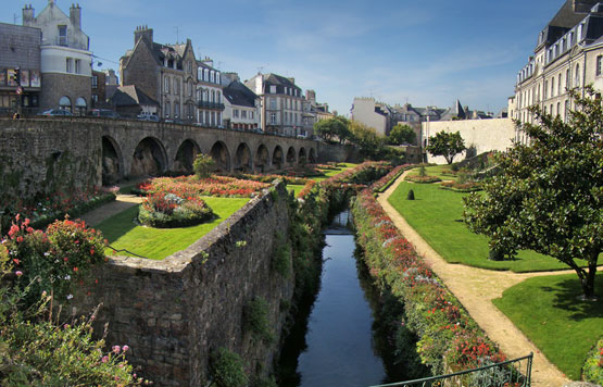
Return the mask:
<path id="1" fill-rule="evenodd" d="M 504 151 L 511 148 L 515 138 L 515 125 L 511 118 L 463 120 L 423 123 L 423 140 L 436 136 L 440 132 L 461 133 L 467 148 L 475 147 L 476 154 L 491 150 Z M 476 155 L 474 154 L 474 155 Z M 465 159 L 466 152 L 455 157 L 454 161 Z M 427 152 L 427 162 L 445 164 L 441 155 L 432 157 Z"/>

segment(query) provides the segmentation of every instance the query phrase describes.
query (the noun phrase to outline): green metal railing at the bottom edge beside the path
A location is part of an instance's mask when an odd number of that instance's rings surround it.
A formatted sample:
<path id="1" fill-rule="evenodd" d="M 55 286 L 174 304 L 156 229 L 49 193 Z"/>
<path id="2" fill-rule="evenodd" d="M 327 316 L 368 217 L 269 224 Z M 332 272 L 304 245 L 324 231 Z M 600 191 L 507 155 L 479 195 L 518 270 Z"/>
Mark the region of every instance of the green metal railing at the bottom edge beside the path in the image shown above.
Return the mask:
<path id="1" fill-rule="evenodd" d="M 370 387 L 529 387 L 533 353 L 479 369 Z"/>

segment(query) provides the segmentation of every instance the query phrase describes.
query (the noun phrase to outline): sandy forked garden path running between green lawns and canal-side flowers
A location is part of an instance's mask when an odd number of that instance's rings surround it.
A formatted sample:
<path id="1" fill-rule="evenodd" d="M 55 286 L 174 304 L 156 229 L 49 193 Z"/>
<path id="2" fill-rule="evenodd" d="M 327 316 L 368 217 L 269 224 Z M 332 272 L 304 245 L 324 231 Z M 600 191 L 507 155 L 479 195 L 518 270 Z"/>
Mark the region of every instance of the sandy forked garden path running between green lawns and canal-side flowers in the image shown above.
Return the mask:
<path id="1" fill-rule="evenodd" d="M 400 183 L 404 180 L 409 172 L 404 172 L 377 199 L 402 235 L 415 247 L 418 254 L 425 259 L 447 287 L 458 298 L 488 337 L 495 341 L 510 359 L 520 358 L 529 352 L 533 352 L 532 386 L 562 387 L 565 383 L 569 382 L 515 324 L 492 303 L 492 299 L 502 297 L 503 290 L 527 278 L 574 273 L 574 271 L 512 273 L 448 263 L 387 201 Z"/>

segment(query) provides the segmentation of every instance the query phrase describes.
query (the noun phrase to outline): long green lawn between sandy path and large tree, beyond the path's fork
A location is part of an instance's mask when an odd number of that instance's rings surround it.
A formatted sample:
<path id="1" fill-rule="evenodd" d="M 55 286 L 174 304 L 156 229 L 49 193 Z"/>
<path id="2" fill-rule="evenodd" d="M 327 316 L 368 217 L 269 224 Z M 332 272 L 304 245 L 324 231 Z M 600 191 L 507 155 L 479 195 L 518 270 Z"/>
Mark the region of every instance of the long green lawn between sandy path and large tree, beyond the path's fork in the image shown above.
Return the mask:
<path id="1" fill-rule="evenodd" d="M 406 200 L 411 188 L 416 200 Z M 513 272 L 569 269 L 553 258 L 533 251 L 520 251 L 514 261 L 488 260 L 488 239 L 470 233 L 462 222 L 464 195 L 440 189 L 435 184 L 403 182 L 389 202 L 448 262 Z"/>

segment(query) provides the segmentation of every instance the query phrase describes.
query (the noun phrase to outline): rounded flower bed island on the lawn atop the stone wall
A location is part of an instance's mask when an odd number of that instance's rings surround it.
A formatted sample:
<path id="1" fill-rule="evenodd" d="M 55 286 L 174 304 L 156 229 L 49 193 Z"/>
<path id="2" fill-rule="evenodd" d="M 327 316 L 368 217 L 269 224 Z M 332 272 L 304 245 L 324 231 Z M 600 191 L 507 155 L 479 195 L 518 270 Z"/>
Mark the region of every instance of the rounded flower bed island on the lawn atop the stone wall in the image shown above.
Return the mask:
<path id="1" fill-rule="evenodd" d="M 180 198 L 174 194 L 150 194 L 138 212 L 141 224 L 156 228 L 188 227 L 210 221 L 212 209 L 199 197 Z"/>

